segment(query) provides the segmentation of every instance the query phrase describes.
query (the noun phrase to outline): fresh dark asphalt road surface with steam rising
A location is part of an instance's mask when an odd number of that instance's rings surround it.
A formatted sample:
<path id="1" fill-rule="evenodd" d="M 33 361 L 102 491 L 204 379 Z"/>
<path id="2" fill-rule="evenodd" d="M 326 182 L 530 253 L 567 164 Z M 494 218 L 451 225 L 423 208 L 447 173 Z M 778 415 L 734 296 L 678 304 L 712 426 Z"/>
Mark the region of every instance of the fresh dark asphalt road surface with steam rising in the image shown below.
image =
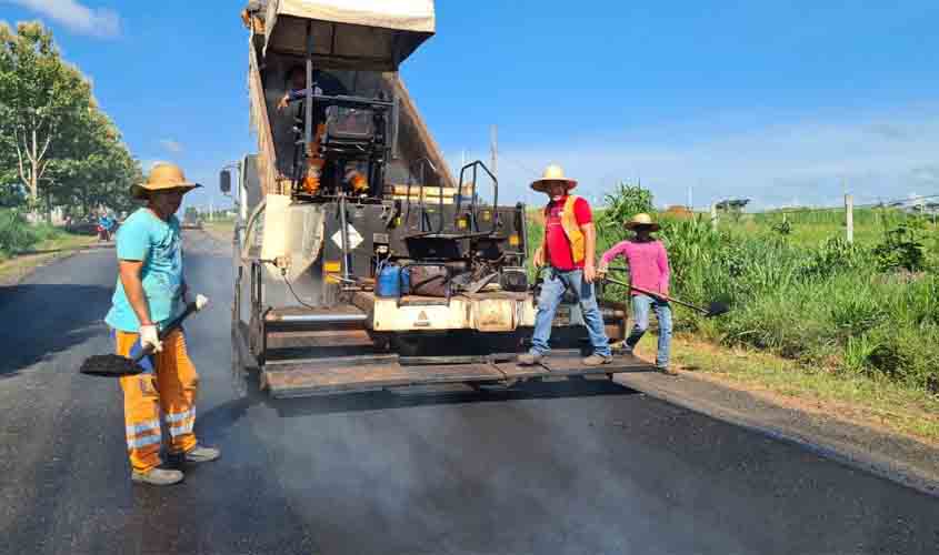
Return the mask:
<path id="1" fill-rule="evenodd" d="M 231 260 L 187 232 L 197 433 L 133 485 L 111 349 L 114 253 L 0 289 L 0 553 L 939 553 L 939 498 L 609 382 L 510 393 L 234 400 Z"/>

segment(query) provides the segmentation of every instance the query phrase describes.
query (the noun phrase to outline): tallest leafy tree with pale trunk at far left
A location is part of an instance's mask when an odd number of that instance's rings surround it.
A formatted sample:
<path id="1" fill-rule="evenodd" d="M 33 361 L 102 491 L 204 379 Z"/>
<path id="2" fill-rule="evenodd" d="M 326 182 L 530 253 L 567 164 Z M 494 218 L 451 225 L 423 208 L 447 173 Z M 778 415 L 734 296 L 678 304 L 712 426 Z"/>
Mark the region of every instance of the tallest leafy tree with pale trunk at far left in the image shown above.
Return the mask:
<path id="1" fill-rule="evenodd" d="M 21 22 L 13 33 L 0 23 L 0 135 L 33 206 L 51 162 L 87 143 L 82 131 L 97 112 L 91 84 L 62 61 L 51 31 Z M 9 169 L 0 178 L 9 180 Z"/>

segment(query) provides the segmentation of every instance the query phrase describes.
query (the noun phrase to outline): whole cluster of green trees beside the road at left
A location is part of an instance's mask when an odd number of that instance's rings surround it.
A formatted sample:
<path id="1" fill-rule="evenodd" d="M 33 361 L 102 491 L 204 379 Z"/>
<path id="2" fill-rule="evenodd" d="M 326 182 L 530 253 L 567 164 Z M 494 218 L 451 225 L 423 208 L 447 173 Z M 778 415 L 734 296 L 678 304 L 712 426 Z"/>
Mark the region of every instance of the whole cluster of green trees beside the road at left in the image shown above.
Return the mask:
<path id="1" fill-rule="evenodd" d="M 63 62 L 51 32 L 0 23 L 0 203 L 40 196 L 76 215 L 96 206 L 130 210 L 131 184 L 142 180 L 91 84 Z"/>

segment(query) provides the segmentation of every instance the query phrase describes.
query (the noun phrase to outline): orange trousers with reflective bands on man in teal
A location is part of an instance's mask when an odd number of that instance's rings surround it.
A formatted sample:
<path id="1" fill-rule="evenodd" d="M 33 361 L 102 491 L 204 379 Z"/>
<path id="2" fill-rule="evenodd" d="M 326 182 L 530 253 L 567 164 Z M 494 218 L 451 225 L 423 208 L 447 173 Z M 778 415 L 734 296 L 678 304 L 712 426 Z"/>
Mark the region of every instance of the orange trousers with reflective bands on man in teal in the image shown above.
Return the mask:
<path id="1" fill-rule="evenodd" d="M 117 331 L 117 353 L 129 356 L 138 334 Z M 186 351 L 179 330 L 163 340 L 163 350 L 152 355 L 154 373 L 120 379 L 124 397 L 127 451 L 134 471 L 148 472 L 160 461 L 160 413 L 170 435 L 170 451 L 183 453 L 196 446 L 196 394 L 199 375 Z"/>

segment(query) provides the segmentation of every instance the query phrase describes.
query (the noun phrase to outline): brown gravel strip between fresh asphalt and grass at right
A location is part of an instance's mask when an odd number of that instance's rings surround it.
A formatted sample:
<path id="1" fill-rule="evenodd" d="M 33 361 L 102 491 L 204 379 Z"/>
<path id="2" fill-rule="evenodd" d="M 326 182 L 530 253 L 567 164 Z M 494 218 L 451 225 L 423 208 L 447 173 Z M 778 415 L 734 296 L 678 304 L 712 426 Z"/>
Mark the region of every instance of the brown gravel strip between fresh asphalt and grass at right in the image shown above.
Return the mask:
<path id="1" fill-rule="evenodd" d="M 825 458 L 939 497 L 939 450 L 835 416 L 782 407 L 682 373 L 616 374 L 613 381 L 672 405 L 798 445 Z"/>

